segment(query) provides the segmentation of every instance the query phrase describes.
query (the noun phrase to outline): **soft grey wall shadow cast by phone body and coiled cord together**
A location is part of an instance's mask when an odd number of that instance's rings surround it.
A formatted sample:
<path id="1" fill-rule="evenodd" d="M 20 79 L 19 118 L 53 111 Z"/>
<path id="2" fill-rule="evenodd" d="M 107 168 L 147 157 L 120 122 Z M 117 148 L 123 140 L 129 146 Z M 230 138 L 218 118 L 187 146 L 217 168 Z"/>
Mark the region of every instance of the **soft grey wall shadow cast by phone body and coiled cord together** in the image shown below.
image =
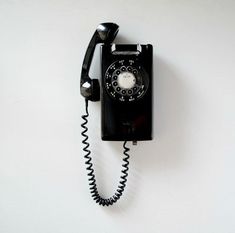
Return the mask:
<path id="1" fill-rule="evenodd" d="M 123 42 L 123 40 L 122 40 Z M 125 41 L 125 43 L 130 43 Z M 154 56 L 154 140 L 138 142 L 131 146 L 130 174 L 124 197 L 108 212 L 125 212 L 137 201 L 141 193 L 141 180 L 151 174 L 152 189 L 158 185 L 156 178 L 160 172 L 183 169 L 186 157 L 187 98 L 185 75 L 174 65 L 161 57 Z M 120 152 L 120 143 L 110 142 L 115 151 Z M 117 155 L 119 153 L 116 153 Z M 151 192 L 151 190 L 149 190 Z M 137 197 L 138 196 L 138 197 Z"/>

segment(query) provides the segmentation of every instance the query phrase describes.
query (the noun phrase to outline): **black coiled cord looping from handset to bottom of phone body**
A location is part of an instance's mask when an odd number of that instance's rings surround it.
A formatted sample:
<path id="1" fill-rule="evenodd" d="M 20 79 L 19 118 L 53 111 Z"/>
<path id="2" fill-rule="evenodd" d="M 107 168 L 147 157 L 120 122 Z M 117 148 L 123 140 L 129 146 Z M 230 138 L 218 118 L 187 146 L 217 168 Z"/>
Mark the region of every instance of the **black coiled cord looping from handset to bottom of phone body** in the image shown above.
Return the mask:
<path id="1" fill-rule="evenodd" d="M 128 176 L 128 170 L 129 170 L 129 154 L 127 153 L 130 149 L 128 147 L 126 147 L 126 141 L 123 143 L 123 148 L 124 148 L 124 152 L 123 154 L 125 155 L 125 157 L 123 158 L 123 165 L 122 167 L 124 168 L 121 172 L 121 180 L 119 181 L 119 185 L 118 188 L 115 192 L 115 194 L 113 194 L 113 196 L 111 196 L 110 198 L 102 198 L 97 190 L 97 185 L 96 185 L 96 179 L 95 179 L 95 174 L 94 174 L 94 169 L 93 169 L 93 164 L 92 164 L 92 159 L 91 159 L 91 151 L 89 150 L 89 142 L 88 142 L 88 135 L 86 134 L 88 131 L 87 128 L 87 123 L 88 123 L 88 100 L 85 100 L 86 102 L 86 115 L 82 115 L 82 119 L 84 120 L 84 122 L 81 124 L 82 128 L 84 129 L 82 131 L 82 136 L 84 137 L 84 139 L 82 140 L 82 143 L 84 144 L 83 147 L 83 151 L 85 152 L 85 156 L 84 158 L 86 159 L 85 164 L 87 165 L 86 170 L 88 171 L 87 175 L 88 175 L 88 181 L 89 181 L 89 186 L 90 186 L 90 191 L 91 191 L 91 196 L 93 197 L 93 199 L 96 201 L 96 203 L 98 203 L 99 205 L 102 206 L 109 206 L 114 204 L 115 202 L 117 202 L 118 199 L 120 199 L 120 197 L 122 196 L 122 193 L 125 189 L 126 186 L 126 182 L 127 182 L 127 176 Z"/>

